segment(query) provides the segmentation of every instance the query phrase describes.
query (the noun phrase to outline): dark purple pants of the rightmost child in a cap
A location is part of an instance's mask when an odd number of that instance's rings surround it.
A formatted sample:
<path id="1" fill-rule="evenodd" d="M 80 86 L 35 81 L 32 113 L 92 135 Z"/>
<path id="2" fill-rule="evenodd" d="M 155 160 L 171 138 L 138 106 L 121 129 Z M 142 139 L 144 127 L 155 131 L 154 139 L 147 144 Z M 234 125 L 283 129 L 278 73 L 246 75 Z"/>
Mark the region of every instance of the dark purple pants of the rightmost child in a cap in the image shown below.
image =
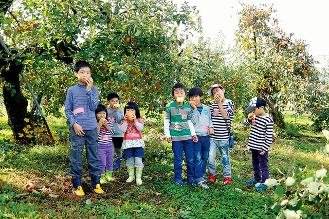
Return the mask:
<path id="1" fill-rule="evenodd" d="M 262 180 L 262 183 L 268 179 L 269 171 L 268 171 L 268 151 L 265 152 L 264 155 L 260 155 L 261 151 L 250 149 L 251 157 L 252 157 L 252 167 L 254 172 L 254 179 L 256 181 Z M 262 171 L 262 173 L 261 173 Z"/>

